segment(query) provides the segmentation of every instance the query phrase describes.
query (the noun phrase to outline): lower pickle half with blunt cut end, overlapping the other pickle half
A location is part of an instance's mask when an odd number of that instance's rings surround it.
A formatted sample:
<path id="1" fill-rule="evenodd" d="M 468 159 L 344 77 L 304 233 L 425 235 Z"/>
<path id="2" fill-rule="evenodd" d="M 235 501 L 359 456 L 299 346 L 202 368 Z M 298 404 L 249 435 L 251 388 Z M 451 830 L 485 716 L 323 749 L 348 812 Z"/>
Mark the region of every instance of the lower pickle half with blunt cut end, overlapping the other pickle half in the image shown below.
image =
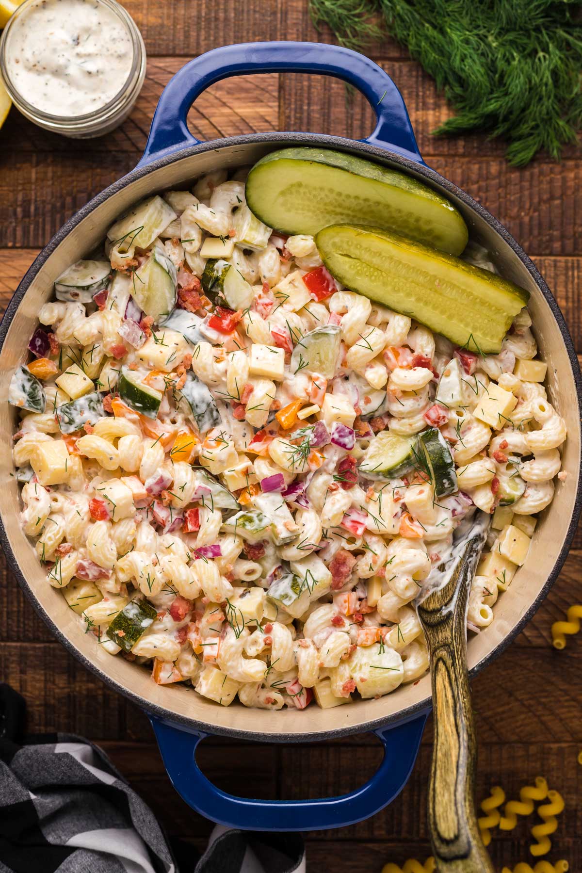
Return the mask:
<path id="1" fill-rule="evenodd" d="M 471 352 L 499 352 L 530 295 L 459 258 L 387 230 L 335 224 L 316 237 L 332 276 Z"/>

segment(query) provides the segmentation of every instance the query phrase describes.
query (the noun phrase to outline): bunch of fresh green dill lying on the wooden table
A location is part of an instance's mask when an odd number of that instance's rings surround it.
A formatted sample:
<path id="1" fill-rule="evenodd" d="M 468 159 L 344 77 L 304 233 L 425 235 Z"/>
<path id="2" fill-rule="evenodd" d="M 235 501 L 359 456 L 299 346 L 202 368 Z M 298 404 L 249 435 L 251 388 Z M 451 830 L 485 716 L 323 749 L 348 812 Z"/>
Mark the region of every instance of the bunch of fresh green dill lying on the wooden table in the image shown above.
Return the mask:
<path id="1" fill-rule="evenodd" d="M 385 25 L 407 47 L 455 108 L 435 134 L 501 136 L 518 167 L 578 142 L 582 0 L 310 2 L 316 26 L 328 24 L 344 45 L 365 48 Z"/>

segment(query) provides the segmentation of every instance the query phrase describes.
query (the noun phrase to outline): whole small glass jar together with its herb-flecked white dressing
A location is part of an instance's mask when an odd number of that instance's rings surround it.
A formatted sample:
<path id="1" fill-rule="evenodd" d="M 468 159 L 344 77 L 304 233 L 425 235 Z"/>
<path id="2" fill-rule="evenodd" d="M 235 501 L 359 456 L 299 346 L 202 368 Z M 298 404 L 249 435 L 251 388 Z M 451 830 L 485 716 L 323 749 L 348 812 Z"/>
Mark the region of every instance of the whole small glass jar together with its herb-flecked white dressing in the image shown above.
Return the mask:
<path id="1" fill-rule="evenodd" d="M 0 75 L 31 121 L 65 136 L 100 136 L 134 106 L 146 50 L 115 0 L 24 0 L 0 40 Z"/>

